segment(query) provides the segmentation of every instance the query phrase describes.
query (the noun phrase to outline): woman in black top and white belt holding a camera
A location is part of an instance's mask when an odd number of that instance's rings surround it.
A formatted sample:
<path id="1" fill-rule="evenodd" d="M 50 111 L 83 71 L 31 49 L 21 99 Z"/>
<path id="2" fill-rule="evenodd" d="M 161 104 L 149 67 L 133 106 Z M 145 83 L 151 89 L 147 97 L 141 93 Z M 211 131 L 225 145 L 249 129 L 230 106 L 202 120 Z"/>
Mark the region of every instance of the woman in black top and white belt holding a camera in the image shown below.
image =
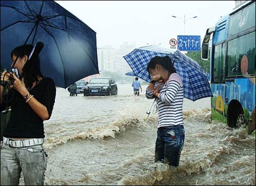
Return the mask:
<path id="1" fill-rule="evenodd" d="M 18 185 L 21 172 L 25 185 L 44 184 L 47 154 L 43 121 L 51 117 L 56 87 L 51 78 L 42 75 L 38 55 L 29 59 L 32 49 L 32 45 L 13 49 L 12 66 L 18 73 L 1 74 L 1 109 L 11 106 L 1 141 L 1 185 Z M 9 91 L 4 95 L 5 86 Z"/>

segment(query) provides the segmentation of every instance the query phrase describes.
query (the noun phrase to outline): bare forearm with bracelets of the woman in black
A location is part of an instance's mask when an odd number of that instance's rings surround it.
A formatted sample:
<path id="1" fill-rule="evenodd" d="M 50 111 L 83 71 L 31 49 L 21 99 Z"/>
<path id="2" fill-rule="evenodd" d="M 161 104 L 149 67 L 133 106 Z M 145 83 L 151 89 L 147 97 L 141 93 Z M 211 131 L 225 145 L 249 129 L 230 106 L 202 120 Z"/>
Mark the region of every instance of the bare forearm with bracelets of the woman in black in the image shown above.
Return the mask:
<path id="1" fill-rule="evenodd" d="M 41 119 L 47 120 L 49 118 L 47 108 L 37 101 L 33 95 L 29 94 L 29 91 L 25 87 L 24 78 L 20 80 L 15 75 L 13 75 L 13 78 L 13 88 L 25 98 L 27 104 Z"/>

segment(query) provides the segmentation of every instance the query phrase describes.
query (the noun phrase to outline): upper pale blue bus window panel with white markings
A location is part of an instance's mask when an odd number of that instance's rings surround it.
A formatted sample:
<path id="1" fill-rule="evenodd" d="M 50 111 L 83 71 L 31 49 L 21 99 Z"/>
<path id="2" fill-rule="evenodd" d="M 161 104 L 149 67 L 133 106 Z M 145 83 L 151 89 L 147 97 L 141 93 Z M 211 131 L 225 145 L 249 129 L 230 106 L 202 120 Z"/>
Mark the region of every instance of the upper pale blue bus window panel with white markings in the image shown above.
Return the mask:
<path id="1" fill-rule="evenodd" d="M 255 28 L 255 2 L 230 16 L 228 37 Z"/>

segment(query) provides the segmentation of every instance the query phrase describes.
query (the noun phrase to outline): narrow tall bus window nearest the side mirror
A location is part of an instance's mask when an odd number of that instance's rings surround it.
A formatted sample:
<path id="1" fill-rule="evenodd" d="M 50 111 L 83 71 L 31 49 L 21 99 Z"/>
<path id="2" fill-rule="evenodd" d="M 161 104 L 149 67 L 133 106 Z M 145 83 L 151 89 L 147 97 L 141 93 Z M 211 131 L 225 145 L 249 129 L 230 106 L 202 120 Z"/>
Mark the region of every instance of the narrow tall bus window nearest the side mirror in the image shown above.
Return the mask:
<path id="1" fill-rule="evenodd" d="M 214 46 L 212 82 L 225 83 L 225 48 L 225 43 Z"/>

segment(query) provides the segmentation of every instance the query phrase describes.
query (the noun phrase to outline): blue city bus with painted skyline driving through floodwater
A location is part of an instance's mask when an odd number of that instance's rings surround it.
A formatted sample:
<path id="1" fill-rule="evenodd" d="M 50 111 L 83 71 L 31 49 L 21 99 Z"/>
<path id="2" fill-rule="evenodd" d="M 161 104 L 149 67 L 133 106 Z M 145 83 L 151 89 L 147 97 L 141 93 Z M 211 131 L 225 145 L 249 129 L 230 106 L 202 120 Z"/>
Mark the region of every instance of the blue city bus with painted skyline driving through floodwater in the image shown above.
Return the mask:
<path id="1" fill-rule="evenodd" d="M 212 120 L 255 133 L 255 1 L 207 29 L 201 58 L 209 57 Z"/>

